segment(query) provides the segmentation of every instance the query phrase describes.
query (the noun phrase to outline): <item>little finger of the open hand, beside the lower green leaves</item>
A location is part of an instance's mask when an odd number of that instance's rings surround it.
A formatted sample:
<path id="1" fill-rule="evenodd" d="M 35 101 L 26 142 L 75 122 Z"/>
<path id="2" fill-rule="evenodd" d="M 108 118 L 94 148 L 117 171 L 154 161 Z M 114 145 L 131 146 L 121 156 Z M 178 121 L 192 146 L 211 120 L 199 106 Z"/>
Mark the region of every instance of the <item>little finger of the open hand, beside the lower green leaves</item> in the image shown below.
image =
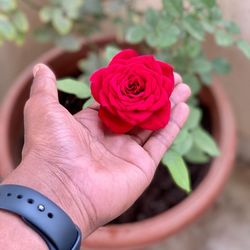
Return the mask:
<path id="1" fill-rule="evenodd" d="M 175 137 L 184 125 L 189 114 L 189 107 L 186 103 L 179 103 L 174 108 L 167 126 L 161 130 L 155 131 L 143 148 L 148 152 L 155 166 L 157 166 L 165 154 L 166 150 L 173 143 Z"/>

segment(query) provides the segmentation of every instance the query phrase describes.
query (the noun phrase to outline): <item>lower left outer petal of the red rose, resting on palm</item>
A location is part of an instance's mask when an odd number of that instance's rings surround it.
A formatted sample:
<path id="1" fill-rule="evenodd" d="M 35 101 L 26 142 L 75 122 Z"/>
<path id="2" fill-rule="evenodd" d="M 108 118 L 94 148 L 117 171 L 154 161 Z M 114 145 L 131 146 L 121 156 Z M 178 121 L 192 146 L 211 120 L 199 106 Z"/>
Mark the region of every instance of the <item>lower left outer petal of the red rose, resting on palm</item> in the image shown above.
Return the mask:
<path id="1" fill-rule="evenodd" d="M 124 134 L 132 129 L 133 125 L 109 113 L 105 108 L 99 109 L 99 117 L 104 124 L 117 134 Z"/>

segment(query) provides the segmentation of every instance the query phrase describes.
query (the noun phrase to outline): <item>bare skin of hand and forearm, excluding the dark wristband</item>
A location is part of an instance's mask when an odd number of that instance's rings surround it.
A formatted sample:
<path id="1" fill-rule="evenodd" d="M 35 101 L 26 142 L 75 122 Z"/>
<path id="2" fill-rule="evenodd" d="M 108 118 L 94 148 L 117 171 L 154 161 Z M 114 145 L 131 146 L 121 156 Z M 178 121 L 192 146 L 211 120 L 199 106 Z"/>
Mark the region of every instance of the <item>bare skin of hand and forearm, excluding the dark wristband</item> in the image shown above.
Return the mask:
<path id="1" fill-rule="evenodd" d="M 43 193 L 70 215 L 86 237 L 128 209 L 150 184 L 187 119 L 190 89 L 175 74 L 168 125 L 155 132 L 134 129 L 117 135 L 99 120 L 97 103 L 74 116 L 61 106 L 55 76 L 47 66 L 38 64 L 33 73 L 24 109 L 22 162 L 3 184 L 21 184 Z M 47 249 L 19 217 L 4 211 L 0 211 L 0 245 L 10 250 Z"/>

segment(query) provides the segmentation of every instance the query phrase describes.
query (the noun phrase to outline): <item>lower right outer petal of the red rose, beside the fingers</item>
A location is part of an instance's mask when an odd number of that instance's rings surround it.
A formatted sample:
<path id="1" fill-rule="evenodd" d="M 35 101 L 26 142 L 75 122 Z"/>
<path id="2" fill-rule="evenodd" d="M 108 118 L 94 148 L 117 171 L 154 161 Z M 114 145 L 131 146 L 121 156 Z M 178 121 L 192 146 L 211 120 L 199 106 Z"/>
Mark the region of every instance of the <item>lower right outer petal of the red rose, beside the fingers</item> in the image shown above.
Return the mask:
<path id="1" fill-rule="evenodd" d="M 170 117 L 170 110 L 171 110 L 171 104 L 170 101 L 168 101 L 167 105 L 154 112 L 147 120 L 139 124 L 138 126 L 143 129 L 148 130 L 157 130 L 160 128 L 164 128 Z"/>

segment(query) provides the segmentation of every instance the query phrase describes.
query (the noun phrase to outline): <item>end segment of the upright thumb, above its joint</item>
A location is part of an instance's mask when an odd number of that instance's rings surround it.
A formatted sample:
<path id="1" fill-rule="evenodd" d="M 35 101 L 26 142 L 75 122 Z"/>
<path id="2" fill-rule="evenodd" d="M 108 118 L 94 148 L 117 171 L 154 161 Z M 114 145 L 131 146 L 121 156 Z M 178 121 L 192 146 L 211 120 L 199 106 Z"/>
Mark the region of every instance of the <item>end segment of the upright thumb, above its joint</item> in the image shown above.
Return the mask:
<path id="1" fill-rule="evenodd" d="M 52 96 L 58 101 L 56 77 L 50 68 L 44 64 L 37 64 L 33 68 L 34 80 L 30 90 L 30 97 L 41 93 L 45 96 Z"/>

